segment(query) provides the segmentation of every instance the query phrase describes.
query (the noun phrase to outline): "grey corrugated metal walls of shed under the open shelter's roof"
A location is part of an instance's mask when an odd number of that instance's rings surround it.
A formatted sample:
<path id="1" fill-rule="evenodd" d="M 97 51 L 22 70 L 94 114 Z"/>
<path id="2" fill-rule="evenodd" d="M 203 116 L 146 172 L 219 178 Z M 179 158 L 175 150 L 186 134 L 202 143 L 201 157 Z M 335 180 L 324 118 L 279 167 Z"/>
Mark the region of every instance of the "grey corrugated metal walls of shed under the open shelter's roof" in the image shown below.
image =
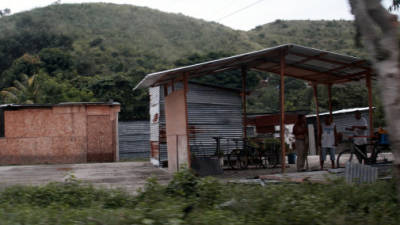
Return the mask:
<path id="1" fill-rule="evenodd" d="M 182 84 L 176 84 L 182 88 Z M 167 160 L 165 140 L 164 94 L 160 87 L 150 88 L 150 118 L 153 120 L 157 109 L 158 122 L 151 121 L 151 140 L 156 141 L 157 130 L 160 148 L 160 161 Z M 156 99 L 159 99 L 158 104 Z M 192 154 L 213 155 L 216 142 L 213 137 L 242 138 L 242 102 L 240 93 L 233 90 L 189 83 L 188 88 L 188 121 L 190 149 Z M 154 133 L 153 133 L 154 132 Z M 154 138 L 153 138 L 154 136 Z M 223 150 L 235 148 L 235 143 L 222 143 Z"/>

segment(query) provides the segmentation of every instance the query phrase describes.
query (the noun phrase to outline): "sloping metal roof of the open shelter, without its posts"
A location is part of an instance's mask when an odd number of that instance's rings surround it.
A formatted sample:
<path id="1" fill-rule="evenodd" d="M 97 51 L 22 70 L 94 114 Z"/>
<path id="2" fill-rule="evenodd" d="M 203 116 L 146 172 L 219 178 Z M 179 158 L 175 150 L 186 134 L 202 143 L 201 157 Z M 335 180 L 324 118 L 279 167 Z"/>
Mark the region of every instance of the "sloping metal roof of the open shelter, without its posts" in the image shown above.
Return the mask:
<path id="1" fill-rule="evenodd" d="M 320 84 L 345 83 L 365 78 L 373 70 L 371 64 L 357 57 L 309 48 L 296 44 L 279 45 L 190 66 L 148 74 L 135 89 L 158 86 L 180 78 L 214 74 L 239 69 L 280 73 L 280 56 L 285 56 L 285 76 Z"/>

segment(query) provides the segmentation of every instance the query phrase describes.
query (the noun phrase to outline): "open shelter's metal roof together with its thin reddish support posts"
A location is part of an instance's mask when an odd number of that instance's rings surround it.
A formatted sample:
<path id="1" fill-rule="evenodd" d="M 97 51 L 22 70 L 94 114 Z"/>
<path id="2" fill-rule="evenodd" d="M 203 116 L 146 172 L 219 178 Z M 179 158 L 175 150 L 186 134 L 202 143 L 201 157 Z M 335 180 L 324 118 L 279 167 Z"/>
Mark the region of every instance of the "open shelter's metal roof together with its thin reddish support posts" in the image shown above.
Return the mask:
<path id="1" fill-rule="evenodd" d="M 371 78 L 374 76 L 371 64 L 366 60 L 356 57 L 342 55 L 334 52 L 323 51 L 295 44 L 285 44 L 259 51 L 244 53 L 218 60 L 180 67 L 176 69 L 165 70 L 161 72 L 148 74 L 134 88 L 146 88 L 152 86 L 164 86 L 164 92 L 168 94 L 174 92 L 176 82 L 184 83 L 184 92 L 187 91 L 187 81 L 190 78 L 215 74 L 222 71 L 241 69 L 243 92 L 246 90 L 247 70 L 253 69 L 264 72 L 279 74 L 280 82 L 280 100 L 281 100 L 281 126 L 284 125 L 284 77 L 294 77 L 309 81 L 314 89 L 314 99 L 318 110 L 317 85 L 323 84 L 328 87 L 329 103 L 331 103 L 331 87 L 334 84 L 359 81 L 366 79 L 369 100 L 369 119 L 372 124 L 372 91 Z M 243 123 L 246 124 L 246 95 L 242 95 L 243 100 Z M 186 105 L 186 102 L 184 103 Z M 186 106 L 185 106 L 186 107 Z M 330 112 L 332 105 L 329 104 Z M 187 115 L 187 114 L 186 114 Z M 319 124 L 319 117 L 317 117 Z M 244 126 L 245 128 L 246 126 Z M 283 132 L 283 130 L 282 130 Z M 372 134 L 372 126 L 370 126 Z M 243 130 L 246 137 L 246 130 Z M 320 133 L 320 130 L 318 130 Z M 283 137 L 283 133 L 281 137 Z M 284 141 L 281 138 L 282 142 Z M 283 145 L 282 154 L 285 154 Z M 190 151 L 188 149 L 188 151 Z M 190 164 L 190 159 L 188 164 Z M 284 160 L 283 160 L 284 164 Z M 282 166 L 282 172 L 285 165 Z"/>

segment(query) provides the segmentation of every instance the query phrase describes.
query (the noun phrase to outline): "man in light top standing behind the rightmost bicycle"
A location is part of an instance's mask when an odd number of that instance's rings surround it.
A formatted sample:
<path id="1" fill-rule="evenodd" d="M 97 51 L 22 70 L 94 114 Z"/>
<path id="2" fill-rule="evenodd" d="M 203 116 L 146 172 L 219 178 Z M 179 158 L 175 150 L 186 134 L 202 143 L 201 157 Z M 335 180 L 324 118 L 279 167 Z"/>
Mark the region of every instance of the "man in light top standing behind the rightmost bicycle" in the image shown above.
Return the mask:
<path id="1" fill-rule="evenodd" d="M 360 111 L 356 111 L 354 114 L 356 120 L 351 128 L 346 130 L 353 131 L 353 143 L 366 155 L 367 154 L 367 120 L 361 117 Z M 362 159 L 356 154 L 358 161 L 361 163 Z"/>

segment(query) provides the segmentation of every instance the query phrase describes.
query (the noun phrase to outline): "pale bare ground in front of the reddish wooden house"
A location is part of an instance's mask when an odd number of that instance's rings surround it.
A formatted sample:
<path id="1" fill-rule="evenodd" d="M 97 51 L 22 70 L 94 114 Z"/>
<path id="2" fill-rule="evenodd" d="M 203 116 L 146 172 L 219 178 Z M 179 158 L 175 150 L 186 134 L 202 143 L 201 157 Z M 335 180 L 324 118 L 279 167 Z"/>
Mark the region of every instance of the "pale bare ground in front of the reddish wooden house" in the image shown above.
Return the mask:
<path id="1" fill-rule="evenodd" d="M 118 162 L 63 165 L 1 166 L 0 187 L 17 184 L 44 185 L 62 182 L 74 175 L 77 179 L 106 188 L 124 188 L 135 192 L 149 177 L 166 184 L 171 175 L 149 162 Z"/>

